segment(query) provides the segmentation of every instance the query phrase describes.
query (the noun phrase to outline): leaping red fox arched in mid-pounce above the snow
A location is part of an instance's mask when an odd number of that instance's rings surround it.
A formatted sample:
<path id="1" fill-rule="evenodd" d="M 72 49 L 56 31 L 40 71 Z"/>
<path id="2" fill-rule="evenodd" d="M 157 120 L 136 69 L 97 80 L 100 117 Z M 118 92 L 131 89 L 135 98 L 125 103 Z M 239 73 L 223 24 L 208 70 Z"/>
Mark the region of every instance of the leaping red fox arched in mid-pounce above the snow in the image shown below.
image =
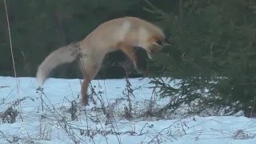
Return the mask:
<path id="1" fill-rule="evenodd" d="M 38 66 L 38 85 L 43 85 L 55 67 L 78 59 L 84 74 L 81 102 L 82 105 L 88 105 L 87 87 L 98 74 L 106 54 L 122 50 L 137 69 L 135 46 L 146 50 L 151 59 L 151 54 L 162 50 L 166 45 L 170 45 L 170 42 L 158 26 L 136 17 L 115 18 L 103 22 L 82 41 L 62 46 L 48 55 Z"/>

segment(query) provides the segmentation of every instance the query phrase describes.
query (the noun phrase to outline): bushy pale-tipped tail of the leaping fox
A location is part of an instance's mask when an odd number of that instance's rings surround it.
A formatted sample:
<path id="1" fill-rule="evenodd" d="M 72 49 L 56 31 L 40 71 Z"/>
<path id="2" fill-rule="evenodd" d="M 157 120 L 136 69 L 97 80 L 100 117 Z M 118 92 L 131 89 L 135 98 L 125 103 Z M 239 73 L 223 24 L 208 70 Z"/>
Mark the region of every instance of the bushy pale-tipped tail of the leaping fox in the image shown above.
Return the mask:
<path id="1" fill-rule="evenodd" d="M 58 50 L 54 50 L 51 54 L 49 54 L 41 65 L 38 66 L 38 72 L 36 74 L 38 85 L 43 85 L 46 78 L 55 67 L 64 63 L 74 62 L 74 60 L 78 57 L 78 49 L 79 46 L 76 43 L 71 43 L 70 45 L 62 46 L 61 48 L 58 48 Z"/>

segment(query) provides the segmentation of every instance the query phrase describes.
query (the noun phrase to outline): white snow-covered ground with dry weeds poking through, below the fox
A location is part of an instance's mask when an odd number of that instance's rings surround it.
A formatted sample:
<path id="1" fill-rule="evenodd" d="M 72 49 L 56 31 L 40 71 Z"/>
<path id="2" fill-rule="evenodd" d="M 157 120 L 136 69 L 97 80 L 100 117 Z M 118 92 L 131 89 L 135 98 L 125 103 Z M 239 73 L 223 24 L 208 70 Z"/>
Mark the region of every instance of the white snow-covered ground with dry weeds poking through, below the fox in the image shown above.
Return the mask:
<path id="1" fill-rule="evenodd" d="M 124 107 L 129 109 L 125 79 L 94 80 L 94 101 L 85 109 L 76 105 L 79 79 L 49 78 L 37 90 L 34 78 L 0 77 L 0 143 L 256 143 L 254 118 L 146 118 L 150 102 L 158 109 L 169 99 L 159 99 L 148 88 L 149 79 L 129 80 L 133 118 L 124 116 Z"/>

